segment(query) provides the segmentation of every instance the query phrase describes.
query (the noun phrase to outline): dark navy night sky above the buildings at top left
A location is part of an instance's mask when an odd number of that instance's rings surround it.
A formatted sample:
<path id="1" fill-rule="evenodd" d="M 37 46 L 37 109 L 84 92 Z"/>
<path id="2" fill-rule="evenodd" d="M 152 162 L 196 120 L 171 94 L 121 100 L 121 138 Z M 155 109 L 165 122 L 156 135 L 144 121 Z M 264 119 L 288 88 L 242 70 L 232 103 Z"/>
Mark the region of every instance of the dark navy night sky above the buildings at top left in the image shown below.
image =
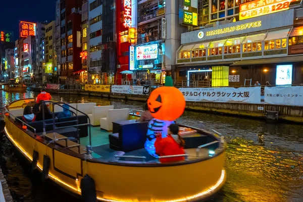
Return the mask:
<path id="1" fill-rule="evenodd" d="M 5 0 L 1 1 L 0 30 L 14 32 L 19 38 L 19 20 L 42 22 L 55 20 L 56 0 Z"/>

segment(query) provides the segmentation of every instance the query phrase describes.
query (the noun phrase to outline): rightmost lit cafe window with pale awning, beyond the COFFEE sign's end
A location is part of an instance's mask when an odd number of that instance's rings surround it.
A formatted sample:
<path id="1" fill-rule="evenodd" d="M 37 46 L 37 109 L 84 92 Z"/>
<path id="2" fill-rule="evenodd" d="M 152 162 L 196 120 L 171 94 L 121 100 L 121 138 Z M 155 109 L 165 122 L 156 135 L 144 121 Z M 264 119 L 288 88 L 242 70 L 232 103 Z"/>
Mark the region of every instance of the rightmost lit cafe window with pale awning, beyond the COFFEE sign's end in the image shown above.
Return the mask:
<path id="1" fill-rule="evenodd" d="M 264 50 L 286 48 L 289 31 L 290 28 L 269 31 L 264 40 Z"/>

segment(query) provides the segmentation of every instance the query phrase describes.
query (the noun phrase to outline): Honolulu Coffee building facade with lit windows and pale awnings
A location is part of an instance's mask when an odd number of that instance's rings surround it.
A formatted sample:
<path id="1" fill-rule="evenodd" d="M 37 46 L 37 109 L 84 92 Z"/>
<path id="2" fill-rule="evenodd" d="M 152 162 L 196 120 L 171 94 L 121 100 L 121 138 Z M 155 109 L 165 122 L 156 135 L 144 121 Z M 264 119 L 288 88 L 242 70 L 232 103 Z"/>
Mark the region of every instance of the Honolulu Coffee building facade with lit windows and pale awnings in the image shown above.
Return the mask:
<path id="1" fill-rule="evenodd" d="M 182 33 L 182 45 L 176 53 L 178 80 L 190 86 L 254 85 L 257 80 L 263 85 L 267 81 L 273 85 L 303 82 L 303 16 L 297 9 L 300 6 L 294 4 L 281 12 L 247 17 L 252 14 L 249 4 L 257 2 L 233 4 L 238 9 L 230 8 L 238 11 L 238 19 L 245 19 L 221 21 Z M 289 4 L 286 1 L 285 5 Z M 211 8 L 214 10 L 210 16 L 216 12 L 220 15 L 219 6 L 219 10 Z M 228 9 L 222 6 L 225 14 Z"/>

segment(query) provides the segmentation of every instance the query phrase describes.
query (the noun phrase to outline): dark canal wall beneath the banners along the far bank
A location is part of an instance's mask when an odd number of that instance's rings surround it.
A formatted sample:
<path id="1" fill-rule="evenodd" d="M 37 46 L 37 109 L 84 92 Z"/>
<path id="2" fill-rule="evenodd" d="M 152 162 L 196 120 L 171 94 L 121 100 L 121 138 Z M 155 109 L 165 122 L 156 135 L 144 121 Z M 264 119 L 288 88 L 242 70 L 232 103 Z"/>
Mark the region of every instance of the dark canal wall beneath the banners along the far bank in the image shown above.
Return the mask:
<path id="1" fill-rule="evenodd" d="M 40 91 L 40 88 L 30 88 Z M 138 100 L 145 102 L 148 95 L 123 94 L 111 92 L 91 92 L 87 90 L 47 89 L 49 93 L 82 94 L 104 98 Z M 217 103 L 217 102 L 186 102 L 186 110 L 212 112 L 236 116 L 256 117 L 262 119 L 278 119 L 303 123 L 303 107 L 289 105 L 270 105 L 266 103 Z M 275 116 L 277 114 L 277 116 Z"/>

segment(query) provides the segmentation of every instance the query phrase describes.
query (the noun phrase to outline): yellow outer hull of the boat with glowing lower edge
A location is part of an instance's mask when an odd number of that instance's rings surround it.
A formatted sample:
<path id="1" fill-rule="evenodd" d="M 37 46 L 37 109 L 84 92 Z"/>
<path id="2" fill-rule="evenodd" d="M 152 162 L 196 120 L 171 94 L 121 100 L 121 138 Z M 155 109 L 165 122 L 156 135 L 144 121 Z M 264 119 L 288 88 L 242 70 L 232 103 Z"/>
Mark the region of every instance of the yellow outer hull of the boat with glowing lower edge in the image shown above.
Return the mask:
<path id="1" fill-rule="evenodd" d="M 214 194 L 226 179 L 224 149 L 216 157 L 178 165 L 85 161 L 82 155 L 35 138 L 7 115 L 5 121 L 6 135 L 22 155 L 32 162 L 33 151 L 37 151 L 39 171 L 43 156 L 48 156 L 48 178 L 78 195 L 86 174 L 94 179 L 97 199 L 102 201 L 194 201 Z"/>

